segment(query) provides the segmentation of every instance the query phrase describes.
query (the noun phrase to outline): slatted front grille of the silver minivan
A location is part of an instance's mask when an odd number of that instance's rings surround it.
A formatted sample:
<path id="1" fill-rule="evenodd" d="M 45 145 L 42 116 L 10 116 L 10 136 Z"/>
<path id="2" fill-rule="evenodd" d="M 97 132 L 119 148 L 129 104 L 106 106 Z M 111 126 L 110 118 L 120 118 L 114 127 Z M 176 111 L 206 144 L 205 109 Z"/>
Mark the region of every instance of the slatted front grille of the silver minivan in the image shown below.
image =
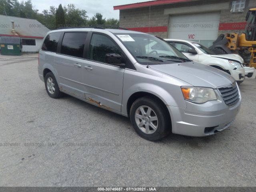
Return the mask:
<path id="1" fill-rule="evenodd" d="M 219 88 L 219 91 L 227 106 L 233 106 L 239 101 L 239 92 L 236 83 L 227 87 Z"/>

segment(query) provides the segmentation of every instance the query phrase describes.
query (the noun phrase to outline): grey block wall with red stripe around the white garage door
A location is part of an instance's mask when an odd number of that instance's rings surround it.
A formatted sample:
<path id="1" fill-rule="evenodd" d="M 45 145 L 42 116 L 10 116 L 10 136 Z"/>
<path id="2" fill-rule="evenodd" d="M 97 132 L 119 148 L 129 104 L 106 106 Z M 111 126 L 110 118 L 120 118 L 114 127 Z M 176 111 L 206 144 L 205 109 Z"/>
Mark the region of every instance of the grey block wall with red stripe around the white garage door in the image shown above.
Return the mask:
<path id="1" fill-rule="evenodd" d="M 236 31 L 242 31 L 245 27 L 245 16 L 249 8 L 256 7 L 256 0 L 246 0 L 246 6 L 244 12 L 242 13 L 230 13 L 233 0 L 195 0 L 191 2 L 183 2 L 176 4 L 167 4 L 160 6 L 151 6 L 144 8 L 134 8 L 127 10 L 120 10 L 120 26 L 124 28 L 137 28 L 133 30 L 149 32 L 151 34 L 160 36 L 162 38 L 168 38 L 168 28 L 169 28 L 169 17 L 172 15 L 164 14 L 164 10 L 172 8 L 182 8 L 184 7 L 184 12 L 182 14 L 188 14 L 188 7 L 202 6 L 220 3 L 229 3 L 228 8 L 218 10 L 220 12 L 220 27 L 218 35 L 221 33 L 230 33 Z M 186 8 L 186 9 L 185 9 Z M 204 13 L 204 10 L 198 10 L 194 13 Z M 241 23 L 242 22 L 242 23 Z M 230 24 L 234 23 L 234 24 Z M 154 30 L 155 26 L 166 26 L 166 31 L 164 30 Z M 141 29 L 142 27 L 149 27 L 149 30 Z M 154 32 L 150 32 L 154 31 Z"/>

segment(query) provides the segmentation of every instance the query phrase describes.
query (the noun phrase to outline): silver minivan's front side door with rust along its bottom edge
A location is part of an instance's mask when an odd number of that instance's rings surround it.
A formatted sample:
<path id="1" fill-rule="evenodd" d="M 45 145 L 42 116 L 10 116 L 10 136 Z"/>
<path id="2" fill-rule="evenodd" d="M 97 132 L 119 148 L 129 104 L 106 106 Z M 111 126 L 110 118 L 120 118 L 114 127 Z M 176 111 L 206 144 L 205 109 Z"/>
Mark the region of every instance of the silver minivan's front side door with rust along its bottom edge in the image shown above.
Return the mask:
<path id="1" fill-rule="evenodd" d="M 106 34 L 91 33 L 88 44 L 88 60 L 83 74 L 86 99 L 98 106 L 120 112 L 124 68 L 106 63 L 105 56 L 108 53 L 122 55 L 122 51 Z"/>

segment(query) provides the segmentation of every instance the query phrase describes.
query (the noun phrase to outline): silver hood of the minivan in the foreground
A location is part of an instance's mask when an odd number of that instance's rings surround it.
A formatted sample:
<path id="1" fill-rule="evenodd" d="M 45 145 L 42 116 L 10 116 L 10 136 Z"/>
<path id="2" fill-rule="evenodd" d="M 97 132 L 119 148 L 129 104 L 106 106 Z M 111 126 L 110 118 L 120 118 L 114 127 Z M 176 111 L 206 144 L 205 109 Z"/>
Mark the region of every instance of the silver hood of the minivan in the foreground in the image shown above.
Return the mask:
<path id="1" fill-rule="evenodd" d="M 183 80 L 192 86 L 218 88 L 233 83 L 232 76 L 197 62 L 150 65 L 150 68 Z"/>

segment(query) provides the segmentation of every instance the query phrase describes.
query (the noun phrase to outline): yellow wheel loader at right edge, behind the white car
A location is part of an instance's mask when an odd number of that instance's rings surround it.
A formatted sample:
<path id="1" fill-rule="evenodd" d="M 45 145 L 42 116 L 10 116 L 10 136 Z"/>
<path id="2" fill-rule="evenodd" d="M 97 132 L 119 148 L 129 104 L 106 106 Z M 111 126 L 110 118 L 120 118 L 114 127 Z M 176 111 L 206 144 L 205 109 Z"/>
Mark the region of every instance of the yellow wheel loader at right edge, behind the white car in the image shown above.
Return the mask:
<path id="1" fill-rule="evenodd" d="M 209 49 L 216 54 L 240 54 L 245 65 L 256 68 L 256 8 L 247 12 L 246 21 L 244 32 L 221 34 Z"/>

